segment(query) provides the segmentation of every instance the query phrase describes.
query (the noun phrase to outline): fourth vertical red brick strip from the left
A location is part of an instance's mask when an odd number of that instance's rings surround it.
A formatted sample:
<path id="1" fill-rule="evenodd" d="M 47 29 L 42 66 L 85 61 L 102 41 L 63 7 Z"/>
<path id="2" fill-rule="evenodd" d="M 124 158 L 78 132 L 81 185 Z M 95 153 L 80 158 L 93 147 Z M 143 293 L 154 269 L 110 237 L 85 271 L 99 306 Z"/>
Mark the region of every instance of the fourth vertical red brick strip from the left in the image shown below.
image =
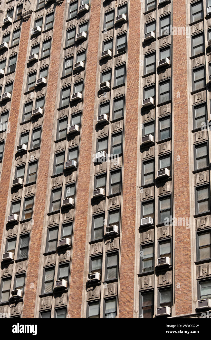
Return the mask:
<path id="1" fill-rule="evenodd" d="M 141 4 L 130 0 L 125 106 L 119 318 L 133 318 Z M 134 34 L 136 32 L 137 34 Z M 131 147 L 133 146 L 133 147 Z"/>

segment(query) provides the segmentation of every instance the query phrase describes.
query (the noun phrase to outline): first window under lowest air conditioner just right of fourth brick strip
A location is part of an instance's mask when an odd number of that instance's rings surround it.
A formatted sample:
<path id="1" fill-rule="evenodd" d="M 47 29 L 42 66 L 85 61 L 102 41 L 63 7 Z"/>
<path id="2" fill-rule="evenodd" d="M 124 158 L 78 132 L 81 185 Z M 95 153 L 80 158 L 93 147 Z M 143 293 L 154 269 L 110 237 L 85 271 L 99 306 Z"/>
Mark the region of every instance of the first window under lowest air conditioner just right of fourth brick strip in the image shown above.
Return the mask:
<path id="1" fill-rule="evenodd" d="M 140 273 L 154 269 L 154 245 L 141 245 L 140 248 Z"/>

